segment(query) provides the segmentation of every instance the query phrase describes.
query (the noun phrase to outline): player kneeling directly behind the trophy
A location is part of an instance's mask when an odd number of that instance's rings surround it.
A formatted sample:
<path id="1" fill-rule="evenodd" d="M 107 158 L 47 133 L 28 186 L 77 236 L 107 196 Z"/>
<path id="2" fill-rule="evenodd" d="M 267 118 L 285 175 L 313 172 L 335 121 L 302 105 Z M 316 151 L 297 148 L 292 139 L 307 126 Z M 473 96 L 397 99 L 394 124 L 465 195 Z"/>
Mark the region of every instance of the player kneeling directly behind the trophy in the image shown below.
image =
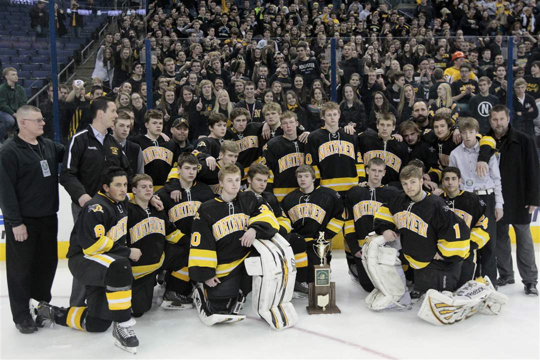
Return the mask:
<path id="1" fill-rule="evenodd" d="M 306 240 L 308 260 L 308 282 L 313 282 L 313 266 L 320 262 L 315 254 L 313 244 L 319 232 L 325 233 L 325 239 L 332 239 L 343 229 L 343 200 L 334 190 L 315 187 L 315 170 L 311 165 L 301 165 L 296 169 L 296 180 L 299 189 L 289 193 L 281 206 L 291 219 L 293 232 Z M 328 253 L 328 264 L 332 254 Z"/>

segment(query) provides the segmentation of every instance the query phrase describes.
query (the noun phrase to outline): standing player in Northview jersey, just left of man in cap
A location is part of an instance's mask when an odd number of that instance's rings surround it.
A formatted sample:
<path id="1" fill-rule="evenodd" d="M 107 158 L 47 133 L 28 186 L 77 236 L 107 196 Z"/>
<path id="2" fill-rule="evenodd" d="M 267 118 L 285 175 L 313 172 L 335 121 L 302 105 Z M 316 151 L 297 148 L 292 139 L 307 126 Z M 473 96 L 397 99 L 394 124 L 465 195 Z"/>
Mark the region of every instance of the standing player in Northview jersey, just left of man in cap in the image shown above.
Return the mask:
<path id="1" fill-rule="evenodd" d="M 160 137 L 163 130 L 163 113 L 159 110 L 148 110 L 144 114 L 145 135 L 137 135 L 133 142 L 143 151 L 144 172 L 152 176 L 154 190 L 165 184 L 167 174 L 174 162 L 176 146 Z"/>

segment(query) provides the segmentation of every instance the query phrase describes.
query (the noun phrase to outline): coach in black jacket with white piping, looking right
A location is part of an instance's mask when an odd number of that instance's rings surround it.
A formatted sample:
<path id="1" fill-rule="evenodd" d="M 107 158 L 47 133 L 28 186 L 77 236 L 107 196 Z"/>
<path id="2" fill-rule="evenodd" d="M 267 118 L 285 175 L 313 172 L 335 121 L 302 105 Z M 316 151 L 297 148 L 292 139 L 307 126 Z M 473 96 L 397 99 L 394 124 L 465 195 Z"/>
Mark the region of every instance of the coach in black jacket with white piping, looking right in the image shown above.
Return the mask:
<path id="1" fill-rule="evenodd" d="M 60 184 L 71 196 L 73 223 L 77 222 L 84 204 L 99 190 L 104 169 L 119 166 L 131 174 L 130 162 L 122 145 L 108 132 L 118 117 L 114 101 L 99 97 L 90 105 L 92 124 L 71 138 L 64 155 Z M 84 306 L 84 286 L 73 278 L 70 306 Z"/>

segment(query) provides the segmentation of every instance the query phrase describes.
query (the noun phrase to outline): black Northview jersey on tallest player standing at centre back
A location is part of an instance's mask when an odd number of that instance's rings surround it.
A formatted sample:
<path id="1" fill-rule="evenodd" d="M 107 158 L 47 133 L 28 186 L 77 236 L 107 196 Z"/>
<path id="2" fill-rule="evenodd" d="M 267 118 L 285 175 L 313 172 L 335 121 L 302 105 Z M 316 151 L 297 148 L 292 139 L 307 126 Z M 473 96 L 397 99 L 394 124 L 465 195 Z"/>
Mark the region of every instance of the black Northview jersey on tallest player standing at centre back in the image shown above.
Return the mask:
<path id="1" fill-rule="evenodd" d="M 339 128 L 335 134 L 321 127 L 307 138 L 306 164 L 315 168 L 321 186 L 345 192 L 366 179 L 356 135 Z"/>

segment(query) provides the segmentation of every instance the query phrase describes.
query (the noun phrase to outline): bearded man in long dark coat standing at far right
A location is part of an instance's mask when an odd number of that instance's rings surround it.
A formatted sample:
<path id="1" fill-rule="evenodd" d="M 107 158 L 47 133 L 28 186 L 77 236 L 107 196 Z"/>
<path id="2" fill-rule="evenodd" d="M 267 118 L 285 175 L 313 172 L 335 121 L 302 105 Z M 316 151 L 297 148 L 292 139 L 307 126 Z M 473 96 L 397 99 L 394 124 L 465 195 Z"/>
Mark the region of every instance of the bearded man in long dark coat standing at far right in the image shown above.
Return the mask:
<path id="1" fill-rule="evenodd" d="M 504 198 L 504 216 L 497 222 L 495 254 L 499 271 L 498 286 L 514 283 L 514 268 L 508 228 L 516 232 L 517 269 L 525 284 L 525 293 L 538 295 L 536 283 L 538 269 L 531 237 L 531 214 L 540 205 L 538 155 L 532 138 L 509 124 L 509 110 L 503 105 L 491 108 L 489 136 L 496 141 L 501 184 Z"/>

